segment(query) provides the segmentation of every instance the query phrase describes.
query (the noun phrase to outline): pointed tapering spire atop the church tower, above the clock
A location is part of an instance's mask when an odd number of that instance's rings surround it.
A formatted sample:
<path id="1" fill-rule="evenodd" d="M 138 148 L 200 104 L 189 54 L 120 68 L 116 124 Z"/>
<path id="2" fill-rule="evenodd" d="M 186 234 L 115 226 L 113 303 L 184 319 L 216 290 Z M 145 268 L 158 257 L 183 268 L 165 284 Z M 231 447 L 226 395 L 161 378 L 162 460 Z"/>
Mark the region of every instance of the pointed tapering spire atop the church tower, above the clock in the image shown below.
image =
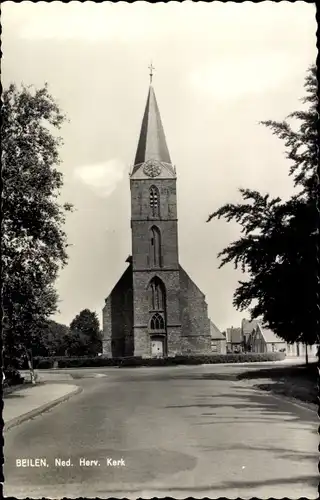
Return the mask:
<path id="1" fill-rule="evenodd" d="M 152 70 L 150 71 L 152 75 Z M 150 85 L 149 88 L 134 165 L 139 165 L 148 160 L 157 160 L 171 164 L 160 112 L 152 85 Z"/>

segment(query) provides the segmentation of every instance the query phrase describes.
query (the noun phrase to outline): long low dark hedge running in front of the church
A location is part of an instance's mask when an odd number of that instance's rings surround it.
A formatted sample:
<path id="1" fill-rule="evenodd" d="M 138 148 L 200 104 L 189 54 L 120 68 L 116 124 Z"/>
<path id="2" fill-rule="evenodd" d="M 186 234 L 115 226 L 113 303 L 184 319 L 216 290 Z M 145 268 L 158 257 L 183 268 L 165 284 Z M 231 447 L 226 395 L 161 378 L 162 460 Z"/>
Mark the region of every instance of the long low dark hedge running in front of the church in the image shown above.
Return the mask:
<path id="1" fill-rule="evenodd" d="M 138 367 L 138 366 L 177 366 L 177 365 L 202 365 L 202 364 L 217 364 L 217 363 L 255 363 L 265 361 L 282 361 L 285 358 L 283 352 L 270 353 L 248 353 L 248 354 L 208 354 L 208 355 L 193 355 L 193 356 L 174 356 L 168 358 L 142 358 L 142 357 L 126 357 L 126 358 L 105 358 L 97 357 L 81 357 L 81 358 L 35 358 L 35 369 L 50 369 L 57 362 L 58 368 L 89 368 L 103 366 L 118 366 Z"/>

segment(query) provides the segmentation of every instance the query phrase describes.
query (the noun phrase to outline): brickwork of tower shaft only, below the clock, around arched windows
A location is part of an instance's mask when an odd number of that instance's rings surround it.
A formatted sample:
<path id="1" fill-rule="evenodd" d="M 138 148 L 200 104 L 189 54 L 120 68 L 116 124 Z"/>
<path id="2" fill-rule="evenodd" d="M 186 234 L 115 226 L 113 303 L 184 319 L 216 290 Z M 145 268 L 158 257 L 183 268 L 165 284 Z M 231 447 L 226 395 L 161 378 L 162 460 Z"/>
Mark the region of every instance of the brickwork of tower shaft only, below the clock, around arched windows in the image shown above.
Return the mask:
<path id="1" fill-rule="evenodd" d="M 158 190 L 158 210 L 152 213 L 150 187 Z M 152 317 L 148 285 L 157 276 L 163 283 L 166 296 L 166 348 L 177 349 L 180 335 L 178 225 L 176 179 L 131 179 L 131 230 L 133 263 L 134 352 L 151 356 L 149 322 Z M 161 259 L 154 265 L 151 228 L 160 232 Z M 177 337 L 178 336 L 178 337 Z"/>

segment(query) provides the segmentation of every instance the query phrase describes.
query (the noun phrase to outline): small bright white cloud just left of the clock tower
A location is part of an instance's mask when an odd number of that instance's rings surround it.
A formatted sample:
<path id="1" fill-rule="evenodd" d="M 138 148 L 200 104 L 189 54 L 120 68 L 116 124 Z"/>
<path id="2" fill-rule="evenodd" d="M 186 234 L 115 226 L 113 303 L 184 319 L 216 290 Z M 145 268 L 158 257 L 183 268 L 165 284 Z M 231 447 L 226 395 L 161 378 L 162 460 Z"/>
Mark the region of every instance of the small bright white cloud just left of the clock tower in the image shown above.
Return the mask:
<path id="1" fill-rule="evenodd" d="M 74 176 L 90 187 L 98 196 L 107 198 L 123 179 L 126 167 L 124 163 L 113 158 L 106 163 L 95 163 L 77 167 Z"/>

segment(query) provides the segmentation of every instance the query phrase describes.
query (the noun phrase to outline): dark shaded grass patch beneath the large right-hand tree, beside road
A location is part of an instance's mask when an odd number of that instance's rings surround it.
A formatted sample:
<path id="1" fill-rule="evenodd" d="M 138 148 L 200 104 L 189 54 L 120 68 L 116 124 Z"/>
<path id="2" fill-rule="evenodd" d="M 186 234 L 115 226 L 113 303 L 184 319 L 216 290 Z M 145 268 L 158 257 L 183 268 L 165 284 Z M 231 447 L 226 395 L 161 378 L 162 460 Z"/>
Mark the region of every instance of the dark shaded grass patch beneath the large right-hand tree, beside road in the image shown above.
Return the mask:
<path id="1" fill-rule="evenodd" d="M 318 404 L 318 366 L 306 365 L 263 368 L 240 373 L 239 380 L 255 380 L 255 387 L 305 403 Z"/>

